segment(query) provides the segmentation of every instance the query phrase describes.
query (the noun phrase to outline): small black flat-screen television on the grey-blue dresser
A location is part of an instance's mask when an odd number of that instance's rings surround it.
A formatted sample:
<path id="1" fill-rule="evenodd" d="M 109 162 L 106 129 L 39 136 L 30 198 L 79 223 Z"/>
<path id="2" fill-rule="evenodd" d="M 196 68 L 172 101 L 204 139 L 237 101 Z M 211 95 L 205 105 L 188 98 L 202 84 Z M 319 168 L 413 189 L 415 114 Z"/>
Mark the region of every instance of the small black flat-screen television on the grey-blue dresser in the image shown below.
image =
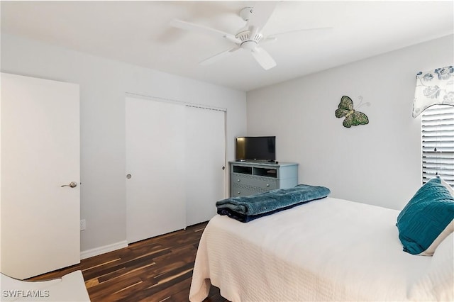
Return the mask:
<path id="1" fill-rule="evenodd" d="M 276 160 L 275 136 L 242 136 L 236 138 L 236 160 Z"/>

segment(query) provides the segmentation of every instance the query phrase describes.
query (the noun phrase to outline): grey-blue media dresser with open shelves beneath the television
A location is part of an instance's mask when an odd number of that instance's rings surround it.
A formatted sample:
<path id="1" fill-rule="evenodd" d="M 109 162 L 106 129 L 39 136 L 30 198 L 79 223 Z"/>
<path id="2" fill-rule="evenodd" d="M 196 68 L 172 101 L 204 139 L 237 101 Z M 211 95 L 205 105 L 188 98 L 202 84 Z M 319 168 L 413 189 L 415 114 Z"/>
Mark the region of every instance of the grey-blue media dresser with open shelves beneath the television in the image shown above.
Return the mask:
<path id="1" fill-rule="evenodd" d="M 248 196 L 298 184 L 295 162 L 230 162 L 231 196 Z"/>

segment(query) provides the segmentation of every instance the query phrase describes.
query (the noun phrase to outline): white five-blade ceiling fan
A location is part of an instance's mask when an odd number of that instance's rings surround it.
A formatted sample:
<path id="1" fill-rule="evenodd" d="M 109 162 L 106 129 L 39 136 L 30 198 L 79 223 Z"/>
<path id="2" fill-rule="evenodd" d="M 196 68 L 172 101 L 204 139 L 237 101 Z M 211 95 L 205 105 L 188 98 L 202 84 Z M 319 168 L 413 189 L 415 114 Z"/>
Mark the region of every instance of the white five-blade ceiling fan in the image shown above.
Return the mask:
<path id="1" fill-rule="evenodd" d="M 237 50 L 243 49 L 248 50 L 253 55 L 258 64 L 265 70 L 271 69 L 276 66 L 275 60 L 271 55 L 260 47 L 261 44 L 267 43 L 270 41 L 277 40 L 277 35 L 282 35 L 284 33 L 277 33 L 270 36 L 262 35 L 262 28 L 267 23 L 273 11 L 277 6 L 277 2 L 274 1 L 257 1 L 254 7 L 245 7 L 240 11 L 240 17 L 246 21 L 245 27 L 238 30 L 238 33 L 231 34 L 225 33 L 222 30 L 217 30 L 214 28 L 209 28 L 207 26 L 202 26 L 196 23 L 190 23 L 182 20 L 173 20 L 170 25 L 175 28 L 181 28 L 184 30 L 193 30 L 200 33 L 207 33 L 211 35 L 217 35 L 222 38 L 226 38 L 235 44 L 231 49 L 224 50 L 212 57 L 207 58 L 200 62 L 201 65 L 208 65 L 217 60 L 221 60 L 223 57 L 231 55 L 231 53 L 236 52 Z M 286 33 L 293 33 L 301 30 L 318 30 L 318 29 L 327 29 L 324 28 L 306 28 L 300 30 L 292 30 Z"/>

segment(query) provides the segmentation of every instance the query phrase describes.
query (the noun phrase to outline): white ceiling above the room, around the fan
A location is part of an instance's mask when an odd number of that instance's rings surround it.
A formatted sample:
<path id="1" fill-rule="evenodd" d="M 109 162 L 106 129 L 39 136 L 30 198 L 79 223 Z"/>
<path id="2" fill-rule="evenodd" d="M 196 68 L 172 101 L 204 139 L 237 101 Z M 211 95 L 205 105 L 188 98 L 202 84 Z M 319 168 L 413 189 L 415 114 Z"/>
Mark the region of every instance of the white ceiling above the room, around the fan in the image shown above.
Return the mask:
<path id="1" fill-rule="evenodd" d="M 246 50 L 202 66 L 228 40 L 172 28 L 177 18 L 235 34 L 254 1 L 1 1 L 1 32 L 133 65 L 249 91 L 453 34 L 453 1 L 279 1 L 262 45 L 277 62 L 264 70 Z"/>

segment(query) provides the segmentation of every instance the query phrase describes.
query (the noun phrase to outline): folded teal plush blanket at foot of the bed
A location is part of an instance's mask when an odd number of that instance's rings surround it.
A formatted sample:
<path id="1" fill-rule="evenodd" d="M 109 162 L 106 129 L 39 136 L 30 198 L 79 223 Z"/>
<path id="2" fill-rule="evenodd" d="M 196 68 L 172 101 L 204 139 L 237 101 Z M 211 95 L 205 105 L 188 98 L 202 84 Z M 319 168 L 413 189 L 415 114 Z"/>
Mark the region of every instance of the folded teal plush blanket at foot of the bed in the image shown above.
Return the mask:
<path id="1" fill-rule="evenodd" d="M 291 189 L 277 189 L 251 196 L 227 198 L 216 202 L 218 212 L 226 209 L 247 216 L 255 216 L 288 208 L 304 201 L 328 196 L 331 191 L 324 186 L 299 184 Z"/>

